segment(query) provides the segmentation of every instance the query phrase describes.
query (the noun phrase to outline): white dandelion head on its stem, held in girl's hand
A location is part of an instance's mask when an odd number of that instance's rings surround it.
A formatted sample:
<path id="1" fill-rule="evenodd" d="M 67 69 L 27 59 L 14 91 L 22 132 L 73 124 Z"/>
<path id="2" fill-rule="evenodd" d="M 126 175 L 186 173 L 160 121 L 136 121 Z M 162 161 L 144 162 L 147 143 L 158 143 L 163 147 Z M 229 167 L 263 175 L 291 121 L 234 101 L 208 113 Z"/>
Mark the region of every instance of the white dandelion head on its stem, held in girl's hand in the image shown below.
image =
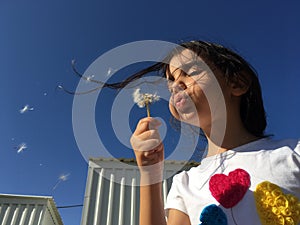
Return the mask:
<path id="1" fill-rule="evenodd" d="M 144 108 L 146 106 L 147 109 L 147 116 L 150 117 L 150 107 L 149 105 L 159 101 L 159 96 L 155 94 L 149 94 L 149 93 L 141 93 L 140 88 L 137 88 L 133 94 L 133 101 L 140 107 Z"/>

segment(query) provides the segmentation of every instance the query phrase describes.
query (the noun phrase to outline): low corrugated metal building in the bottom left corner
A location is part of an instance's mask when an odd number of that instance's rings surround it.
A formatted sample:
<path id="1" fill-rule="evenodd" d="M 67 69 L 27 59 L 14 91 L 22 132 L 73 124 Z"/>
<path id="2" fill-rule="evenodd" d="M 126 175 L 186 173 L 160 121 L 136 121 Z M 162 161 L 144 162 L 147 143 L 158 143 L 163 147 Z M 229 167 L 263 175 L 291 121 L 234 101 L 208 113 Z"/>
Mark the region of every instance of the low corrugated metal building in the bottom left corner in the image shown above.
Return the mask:
<path id="1" fill-rule="evenodd" d="M 52 197 L 0 194 L 1 225 L 63 225 Z"/>

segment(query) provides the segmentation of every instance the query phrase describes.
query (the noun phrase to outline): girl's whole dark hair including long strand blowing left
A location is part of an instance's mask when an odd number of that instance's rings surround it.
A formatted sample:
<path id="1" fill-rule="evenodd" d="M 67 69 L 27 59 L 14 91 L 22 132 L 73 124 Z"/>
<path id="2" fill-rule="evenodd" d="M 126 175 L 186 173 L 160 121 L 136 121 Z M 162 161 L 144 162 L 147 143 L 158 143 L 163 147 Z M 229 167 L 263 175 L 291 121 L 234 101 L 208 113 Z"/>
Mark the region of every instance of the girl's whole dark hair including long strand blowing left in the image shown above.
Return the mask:
<path id="1" fill-rule="evenodd" d="M 156 71 L 160 73 L 161 76 L 165 77 L 169 68 L 168 62 L 174 54 L 178 54 L 182 51 L 182 47 L 190 49 L 197 54 L 202 60 L 204 60 L 212 71 L 217 71 L 221 74 L 227 83 L 245 85 L 248 87 L 248 91 L 241 97 L 240 116 L 242 122 L 251 134 L 257 137 L 265 137 L 264 130 L 266 128 L 267 121 L 257 73 L 245 59 L 229 48 L 219 44 L 200 40 L 183 42 L 178 48 L 171 51 L 163 62 L 154 63 L 152 66 L 132 74 L 121 82 L 94 82 L 101 84 L 101 88 L 109 87 L 113 89 L 120 89 L 151 72 Z M 76 71 L 74 64 L 73 69 L 77 75 L 84 78 Z"/>

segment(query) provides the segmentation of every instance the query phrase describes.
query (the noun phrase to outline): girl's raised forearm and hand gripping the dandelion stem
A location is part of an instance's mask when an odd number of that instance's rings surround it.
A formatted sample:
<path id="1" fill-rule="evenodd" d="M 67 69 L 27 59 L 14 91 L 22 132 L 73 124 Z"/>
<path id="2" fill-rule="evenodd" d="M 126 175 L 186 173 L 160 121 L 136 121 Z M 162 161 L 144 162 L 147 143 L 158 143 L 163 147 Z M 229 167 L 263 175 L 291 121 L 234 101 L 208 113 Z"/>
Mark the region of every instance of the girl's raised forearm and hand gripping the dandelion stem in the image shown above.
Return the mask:
<path id="1" fill-rule="evenodd" d="M 164 146 L 154 118 L 141 119 L 130 138 L 140 170 L 140 225 L 166 225 L 162 197 Z"/>

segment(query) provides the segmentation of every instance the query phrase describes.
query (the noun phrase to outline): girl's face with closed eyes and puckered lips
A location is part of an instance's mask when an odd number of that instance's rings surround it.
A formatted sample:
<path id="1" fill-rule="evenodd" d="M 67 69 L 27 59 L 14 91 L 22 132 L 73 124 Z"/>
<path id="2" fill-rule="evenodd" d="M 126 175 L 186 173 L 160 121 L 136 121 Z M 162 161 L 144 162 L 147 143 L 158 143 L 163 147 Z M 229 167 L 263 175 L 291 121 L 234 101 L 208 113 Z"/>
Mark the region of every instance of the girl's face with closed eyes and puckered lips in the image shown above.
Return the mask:
<path id="1" fill-rule="evenodd" d="M 210 128 L 212 117 L 224 111 L 220 84 L 204 61 L 189 50 L 174 56 L 166 73 L 171 92 L 169 108 L 172 115 L 183 122 Z M 224 103 L 224 101 L 223 101 Z M 218 109 L 218 110 L 217 110 Z M 218 113 L 216 113 L 218 112 Z"/>

